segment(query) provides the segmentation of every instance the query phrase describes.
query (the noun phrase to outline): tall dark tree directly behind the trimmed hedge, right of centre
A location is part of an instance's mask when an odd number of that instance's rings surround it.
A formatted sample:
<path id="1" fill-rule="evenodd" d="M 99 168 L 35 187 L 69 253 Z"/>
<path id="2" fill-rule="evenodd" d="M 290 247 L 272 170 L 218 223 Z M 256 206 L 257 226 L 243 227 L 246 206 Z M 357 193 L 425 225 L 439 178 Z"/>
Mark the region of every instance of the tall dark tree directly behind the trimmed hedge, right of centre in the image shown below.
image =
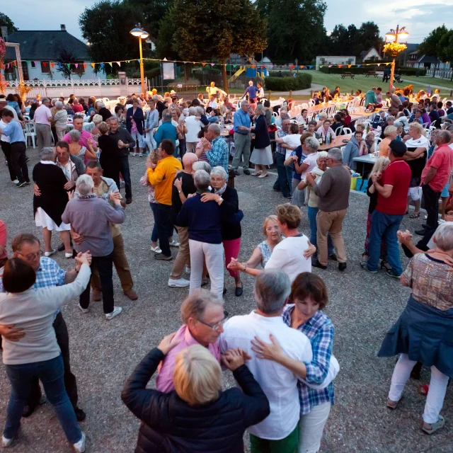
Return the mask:
<path id="1" fill-rule="evenodd" d="M 286 0 L 273 2 L 268 18 L 267 53 L 275 61 L 309 62 L 324 40 L 323 0 Z"/>

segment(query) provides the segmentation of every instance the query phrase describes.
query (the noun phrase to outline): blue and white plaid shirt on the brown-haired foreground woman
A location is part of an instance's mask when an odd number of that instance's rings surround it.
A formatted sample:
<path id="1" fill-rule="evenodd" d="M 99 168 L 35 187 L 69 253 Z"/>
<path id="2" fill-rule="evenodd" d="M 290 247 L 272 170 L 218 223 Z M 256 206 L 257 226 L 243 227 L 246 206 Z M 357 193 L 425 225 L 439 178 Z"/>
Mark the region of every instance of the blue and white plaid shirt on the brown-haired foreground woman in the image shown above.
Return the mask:
<path id="1" fill-rule="evenodd" d="M 291 326 L 291 313 L 294 304 L 285 306 L 282 318 L 287 326 Z M 313 360 L 306 365 L 306 378 L 309 384 L 321 384 L 327 377 L 328 367 L 330 365 L 332 346 L 333 346 L 333 324 L 331 320 L 317 311 L 316 314 L 308 321 L 301 324 L 297 330 L 304 333 L 310 340 L 311 349 L 313 350 Z M 335 403 L 335 394 L 333 391 L 333 382 L 328 384 L 326 389 L 310 389 L 303 382 L 298 382 L 300 413 L 305 415 L 311 411 L 311 408 L 321 403 Z"/>

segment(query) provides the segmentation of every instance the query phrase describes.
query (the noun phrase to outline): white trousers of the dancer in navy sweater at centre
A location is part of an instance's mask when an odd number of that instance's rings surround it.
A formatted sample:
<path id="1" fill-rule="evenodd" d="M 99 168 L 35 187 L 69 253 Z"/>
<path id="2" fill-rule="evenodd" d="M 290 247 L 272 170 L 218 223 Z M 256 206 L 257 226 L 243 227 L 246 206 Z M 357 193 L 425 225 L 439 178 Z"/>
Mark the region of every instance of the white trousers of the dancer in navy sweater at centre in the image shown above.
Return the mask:
<path id="1" fill-rule="evenodd" d="M 222 299 L 224 291 L 224 246 L 222 243 L 207 243 L 189 239 L 190 248 L 190 287 L 201 288 L 203 259 L 206 260 L 207 272 L 211 279 L 211 292 Z"/>

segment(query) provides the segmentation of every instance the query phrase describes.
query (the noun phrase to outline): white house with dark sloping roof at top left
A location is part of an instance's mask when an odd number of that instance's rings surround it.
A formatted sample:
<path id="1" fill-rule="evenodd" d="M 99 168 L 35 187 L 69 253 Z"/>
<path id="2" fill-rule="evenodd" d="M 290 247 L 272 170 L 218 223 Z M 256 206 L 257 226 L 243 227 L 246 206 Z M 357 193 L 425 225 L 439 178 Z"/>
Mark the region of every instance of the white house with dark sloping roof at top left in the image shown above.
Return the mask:
<path id="1" fill-rule="evenodd" d="M 103 72 L 96 74 L 91 67 L 88 46 L 69 34 L 64 24 L 60 30 L 18 30 L 6 38 L 7 42 L 16 42 L 20 45 L 22 71 L 24 80 L 55 80 L 65 79 L 59 71 L 65 63 L 65 57 L 71 57 L 70 77 L 74 80 L 91 80 L 103 76 Z M 8 62 L 16 60 L 16 52 L 12 47 L 6 47 L 5 79 L 18 80 L 17 68 Z M 62 62 L 63 60 L 63 62 Z M 97 67 L 98 69 L 98 67 Z"/>

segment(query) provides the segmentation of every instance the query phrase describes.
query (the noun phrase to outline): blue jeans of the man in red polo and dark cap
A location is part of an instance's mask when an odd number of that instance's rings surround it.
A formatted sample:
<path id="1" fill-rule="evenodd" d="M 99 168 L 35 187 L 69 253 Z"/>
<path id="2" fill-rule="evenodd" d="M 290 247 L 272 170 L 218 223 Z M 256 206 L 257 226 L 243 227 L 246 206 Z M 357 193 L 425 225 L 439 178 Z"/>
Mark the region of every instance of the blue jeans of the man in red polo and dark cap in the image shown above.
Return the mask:
<path id="1" fill-rule="evenodd" d="M 399 260 L 399 247 L 396 231 L 403 220 L 403 215 L 384 214 L 374 210 L 371 216 L 371 231 L 369 233 L 368 269 L 377 270 L 381 256 L 381 242 L 387 248 L 387 262 L 395 275 L 401 275 L 403 269 Z"/>

